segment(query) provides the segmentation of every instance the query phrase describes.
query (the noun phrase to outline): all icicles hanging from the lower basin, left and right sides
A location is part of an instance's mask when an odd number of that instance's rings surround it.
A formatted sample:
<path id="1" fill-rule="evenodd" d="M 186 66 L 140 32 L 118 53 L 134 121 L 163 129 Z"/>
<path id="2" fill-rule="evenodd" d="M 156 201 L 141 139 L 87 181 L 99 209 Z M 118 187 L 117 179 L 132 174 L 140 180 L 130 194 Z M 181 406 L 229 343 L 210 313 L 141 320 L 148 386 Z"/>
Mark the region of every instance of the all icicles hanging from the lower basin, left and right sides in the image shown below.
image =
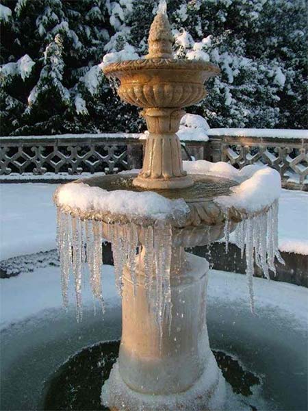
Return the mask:
<path id="1" fill-rule="evenodd" d="M 266 278 L 269 270 L 275 272 L 274 259 L 283 263 L 278 251 L 278 201 L 275 201 L 267 212 L 246 216 L 235 229 L 235 243 L 246 256 L 246 274 L 248 290 L 253 301 L 254 264 L 261 267 Z M 102 243 L 103 227 L 107 229 L 107 238 L 112 243 L 114 257 L 114 274 L 116 287 L 120 296 L 123 292 L 123 270 L 127 266 L 136 293 L 138 288 L 137 265 L 142 259 L 144 283 L 149 297 L 149 309 L 153 310 L 159 328 L 165 320 L 171 321 L 170 264 L 172 257 L 172 226 L 164 220 L 158 220 L 147 227 L 135 223 L 102 223 L 70 216 L 57 210 L 57 247 L 60 255 L 62 273 L 62 297 L 64 306 L 68 305 L 68 280 L 70 271 L 75 281 L 77 301 L 77 321 L 82 318 L 81 287 L 83 284 L 84 264 L 90 271 L 92 293 L 103 306 L 101 288 L 102 278 Z M 226 251 L 229 244 L 230 221 L 226 214 L 224 235 Z M 106 234 L 106 232 L 105 232 Z M 143 245 L 140 245 L 140 236 Z M 138 258 L 140 260 L 138 260 Z"/>

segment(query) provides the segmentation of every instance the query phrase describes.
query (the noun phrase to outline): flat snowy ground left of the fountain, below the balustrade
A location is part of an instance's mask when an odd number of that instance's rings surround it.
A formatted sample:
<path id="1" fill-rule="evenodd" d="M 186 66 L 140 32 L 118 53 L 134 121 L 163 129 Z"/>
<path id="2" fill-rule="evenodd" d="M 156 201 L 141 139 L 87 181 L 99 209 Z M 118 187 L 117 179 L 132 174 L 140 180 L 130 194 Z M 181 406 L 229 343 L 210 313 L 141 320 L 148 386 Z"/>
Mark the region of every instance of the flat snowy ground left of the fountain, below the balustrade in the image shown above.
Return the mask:
<path id="1" fill-rule="evenodd" d="M 0 260 L 55 248 L 57 185 L 0 185 Z"/>

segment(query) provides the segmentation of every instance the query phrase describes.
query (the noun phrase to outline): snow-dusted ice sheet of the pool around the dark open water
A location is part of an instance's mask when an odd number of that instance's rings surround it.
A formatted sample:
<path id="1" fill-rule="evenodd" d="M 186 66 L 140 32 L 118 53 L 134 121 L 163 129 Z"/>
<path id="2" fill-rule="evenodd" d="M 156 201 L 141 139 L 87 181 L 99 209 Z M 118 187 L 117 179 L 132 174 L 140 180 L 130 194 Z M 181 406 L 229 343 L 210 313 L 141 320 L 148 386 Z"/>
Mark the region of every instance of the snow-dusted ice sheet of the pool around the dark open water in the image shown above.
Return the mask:
<path id="1" fill-rule="evenodd" d="M 94 316 L 86 290 L 81 323 L 73 306 L 60 307 L 57 267 L 0 280 L 2 410 L 41 409 L 44 384 L 61 364 L 84 347 L 120 338 L 113 268 L 104 266 L 104 275 L 106 312 Z M 209 273 L 211 348 L 260 377 L 248 397 L 257 410 L 307 410 L 307 289 L 256 278 L 256 316 L 245 292 L 242 275 Z"/>

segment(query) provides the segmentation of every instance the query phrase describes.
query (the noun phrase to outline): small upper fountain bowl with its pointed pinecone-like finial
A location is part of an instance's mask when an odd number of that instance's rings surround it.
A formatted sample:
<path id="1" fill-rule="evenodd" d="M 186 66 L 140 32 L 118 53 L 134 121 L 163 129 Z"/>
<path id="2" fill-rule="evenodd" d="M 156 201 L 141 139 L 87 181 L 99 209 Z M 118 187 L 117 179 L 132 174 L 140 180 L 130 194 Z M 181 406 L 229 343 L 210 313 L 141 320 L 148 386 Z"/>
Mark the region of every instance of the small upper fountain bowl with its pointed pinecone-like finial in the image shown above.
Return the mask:
<path id="1" fill-rule="evenodd" d="M 220 70 L 203 60 L 174 59 L 172 42 L 168 17 L 158 12 L 151 25 L 146 58 L 105 66 L 107 77 L 120 80 L 121 99 L 142 108 L 183 108 L 205 97 L 203 84 Z"/>

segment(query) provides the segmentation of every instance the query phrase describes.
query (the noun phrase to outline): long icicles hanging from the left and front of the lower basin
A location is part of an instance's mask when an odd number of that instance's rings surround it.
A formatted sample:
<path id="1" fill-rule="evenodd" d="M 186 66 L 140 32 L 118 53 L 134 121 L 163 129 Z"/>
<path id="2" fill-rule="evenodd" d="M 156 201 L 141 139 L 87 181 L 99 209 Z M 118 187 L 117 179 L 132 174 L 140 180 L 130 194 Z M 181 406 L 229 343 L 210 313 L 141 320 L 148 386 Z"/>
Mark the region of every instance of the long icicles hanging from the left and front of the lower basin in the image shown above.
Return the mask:
<path id="1" fill-rule="evenodd" d="M 101 303 L 104 311 L 101 278 L 103 235 L 112 244 L 114 275 L 119 295 L 123 293 L 123 270 L 127 266 L 133 292 L 138 288 L 137 264 L 142 259 L 144 284 L 149 298 L 149 310 L 155 313 L 159 328 L 164 319 L 170 319 L 170 265 L 172 253 L 172 226 L 164 220 L 153 225 L 140 227 L 134 223 L 102 223 L 70 216 L 57 209 L 57 247 L 60 256 L 62 298 L 68 306 L 68 282 L 70 271 L 75 282 L 77 321 L 82 319 L 81 286 L 84 265 L 90 271 L 90 286 L 93 296 Z M 140 236 L 143 245 L 140 245 Z M 157 273 L 157 274 L 155 274 Z"/>

